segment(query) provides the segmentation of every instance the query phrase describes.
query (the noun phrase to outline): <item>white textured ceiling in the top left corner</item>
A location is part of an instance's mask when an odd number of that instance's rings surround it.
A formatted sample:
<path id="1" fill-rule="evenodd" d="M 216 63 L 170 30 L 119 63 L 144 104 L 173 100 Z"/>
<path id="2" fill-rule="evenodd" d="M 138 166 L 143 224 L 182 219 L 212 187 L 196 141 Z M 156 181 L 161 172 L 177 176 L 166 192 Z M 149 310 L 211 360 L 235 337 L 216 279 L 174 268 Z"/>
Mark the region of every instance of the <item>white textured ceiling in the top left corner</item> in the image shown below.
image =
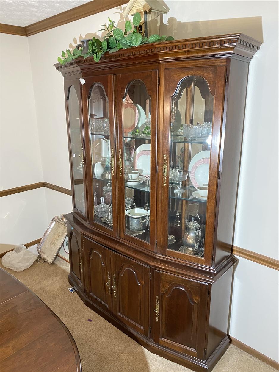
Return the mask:
<path id="1" fill-rule="evenodd" d="M 0 23 L 25 27 L 89 1 L 92 0 L 0 0 Z"/>

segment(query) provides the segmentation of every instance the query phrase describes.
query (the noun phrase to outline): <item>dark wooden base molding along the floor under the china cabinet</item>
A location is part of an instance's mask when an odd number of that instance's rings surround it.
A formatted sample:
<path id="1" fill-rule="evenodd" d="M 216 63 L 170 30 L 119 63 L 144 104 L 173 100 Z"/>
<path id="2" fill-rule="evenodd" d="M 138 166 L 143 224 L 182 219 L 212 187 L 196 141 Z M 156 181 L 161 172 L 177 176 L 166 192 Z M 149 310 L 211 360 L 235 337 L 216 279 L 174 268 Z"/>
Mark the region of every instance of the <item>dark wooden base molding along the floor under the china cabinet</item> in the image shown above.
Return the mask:
<path id="1" fill-rule="evenodd" d="M 219 346 L 214 350 L 214 352 L 209 356 L 207 360 L 201 360 L 195 357 L 191 357 L 189 355 L 185 355 L 179 352 L 176 352 L 175 350 L 170 350 L 164 346 L 161 346 L 159 344 L 156 344 L 153 340 L 149 339 L 148 337 L 138 333 L 131 327 L 129 327 L 126 324 L 123 324 L 119 320 L 117 320 L 115 317 L 113 317 L 112 314 L 109 312 L 104 311 L 99 306 L 94 304 L 87 296 L 86 294 L 80 290 L 80 286 L 76 281 L 71 277 L 71 274 L 68 275 L 68 280 L 71 286 L 75 286 L 78 288 L 77 294 L 80 297 L 80 299 L 84 302 L 86 306 L 88 306 L 91 310 L 95 311 L 97 314 L 99 314 L 102 318 L 107 320 L 109 323 L 114 325 L 116 328 L 121 330 L 123 333 L 125 333 L 127 336 L 131 337 L 131 339 L 135 340 L 138 344 L 145 347 L 148 351 L 151 353 L 154 353 L 156 355 L 159 355 L 163 358 L 166 358 L 168 360 L 171 360 L 172 362 L 179 363 L 180 365 L 183 365 L 186 368 L 190 368 L 193 371 L 197 372 L 210 372 L 216 365 L 216 363 L 221 359 L 221 357 L 224 355 L 225 351 L 227 350 L 230 339 L 228 336 L 225 336 L 224 339 L 221 341 Z"/>

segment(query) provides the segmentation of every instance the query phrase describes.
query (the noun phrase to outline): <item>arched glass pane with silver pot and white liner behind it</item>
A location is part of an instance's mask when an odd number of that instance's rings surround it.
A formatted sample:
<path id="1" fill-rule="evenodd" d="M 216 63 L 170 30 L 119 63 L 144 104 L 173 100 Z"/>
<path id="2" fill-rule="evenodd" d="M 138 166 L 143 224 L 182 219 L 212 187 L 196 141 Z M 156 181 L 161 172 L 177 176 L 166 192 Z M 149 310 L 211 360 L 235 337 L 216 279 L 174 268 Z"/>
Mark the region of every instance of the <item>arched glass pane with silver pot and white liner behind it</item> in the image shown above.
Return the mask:
<path id="1" fill-rule="evenodd" d="M 122 102 L 125 232 L 150 241 L 151 97 L 141 80 L 126 88 Z"/>

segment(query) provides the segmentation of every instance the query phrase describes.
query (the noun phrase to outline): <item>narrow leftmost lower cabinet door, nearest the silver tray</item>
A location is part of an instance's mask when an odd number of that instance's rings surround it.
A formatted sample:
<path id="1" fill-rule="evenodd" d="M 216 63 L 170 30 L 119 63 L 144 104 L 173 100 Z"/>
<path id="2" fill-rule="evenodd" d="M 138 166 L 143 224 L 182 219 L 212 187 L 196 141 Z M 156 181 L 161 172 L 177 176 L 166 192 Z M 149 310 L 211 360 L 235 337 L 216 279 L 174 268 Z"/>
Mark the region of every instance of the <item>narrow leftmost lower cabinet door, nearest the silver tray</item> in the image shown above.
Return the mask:
<path id="1" fill-rule="evenodd" d="M 69 246 L 69 258 L 70 258 L 70 274 L 74 281 L 77 283 L 79 288 L 84 291 L 83 286 L 83 254 L 81 235 L 79 232 L 74 230 L 71 225 L 67 224 L 68 230 L 68 246 Z"/>

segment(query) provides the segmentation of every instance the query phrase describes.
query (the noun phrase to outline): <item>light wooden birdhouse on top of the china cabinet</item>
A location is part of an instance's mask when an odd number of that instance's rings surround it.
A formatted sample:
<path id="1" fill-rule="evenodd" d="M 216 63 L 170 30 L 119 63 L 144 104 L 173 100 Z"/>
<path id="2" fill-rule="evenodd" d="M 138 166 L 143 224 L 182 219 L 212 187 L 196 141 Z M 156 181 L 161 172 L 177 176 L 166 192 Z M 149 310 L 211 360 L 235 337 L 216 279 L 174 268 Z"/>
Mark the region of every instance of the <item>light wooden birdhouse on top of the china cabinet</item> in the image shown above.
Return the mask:
<path id="1" fill-rule="evenodd" d="M 124 16 L 140 13 L 141 23 L 138 28 L 143 36 L 160 35 L 160 25 L 163 25 L 163 14 L 169 12 L 169 7 L 158 0 L 130 0 L 124 10 Z"/>

